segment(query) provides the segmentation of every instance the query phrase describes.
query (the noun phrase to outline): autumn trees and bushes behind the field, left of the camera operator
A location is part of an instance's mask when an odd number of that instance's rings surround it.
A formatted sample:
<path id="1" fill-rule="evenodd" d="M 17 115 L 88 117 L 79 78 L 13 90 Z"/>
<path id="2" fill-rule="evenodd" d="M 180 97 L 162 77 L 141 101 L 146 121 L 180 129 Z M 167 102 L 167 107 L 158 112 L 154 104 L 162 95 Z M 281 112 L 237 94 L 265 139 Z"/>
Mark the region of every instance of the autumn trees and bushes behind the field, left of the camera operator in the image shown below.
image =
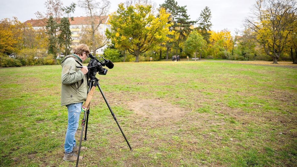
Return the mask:
<path id="1" fill-rule="evenodd" d="M 36 12 L 40 28 L 17 18 L 0 21 L 0 66 L 59 64 L 58 53 L 69 54 L 71 31 L 69 15 L 76 4 L 63 6 L 60 0 L 45 2 L 47 12 Z M 64 17 L 63 17 L 64 16 Z"/>

